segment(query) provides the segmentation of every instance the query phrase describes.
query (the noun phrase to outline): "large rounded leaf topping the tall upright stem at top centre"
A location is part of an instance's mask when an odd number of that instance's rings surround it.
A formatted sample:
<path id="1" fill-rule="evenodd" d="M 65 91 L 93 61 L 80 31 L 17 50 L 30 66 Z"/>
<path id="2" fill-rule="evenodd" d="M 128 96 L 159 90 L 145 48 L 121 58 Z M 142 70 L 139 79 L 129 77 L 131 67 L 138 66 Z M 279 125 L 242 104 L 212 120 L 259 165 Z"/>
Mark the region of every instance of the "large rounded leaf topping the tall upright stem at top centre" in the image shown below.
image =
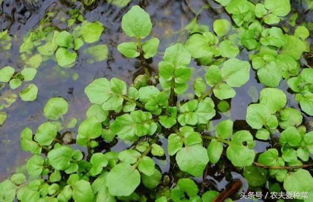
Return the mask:
<path id="1" fill-rule="evenodd" d="M 146 38 L 152 29 L 150 16 L 139 6 L 133 6 L 122 19 L 122 29 L 129 37 Z"/>

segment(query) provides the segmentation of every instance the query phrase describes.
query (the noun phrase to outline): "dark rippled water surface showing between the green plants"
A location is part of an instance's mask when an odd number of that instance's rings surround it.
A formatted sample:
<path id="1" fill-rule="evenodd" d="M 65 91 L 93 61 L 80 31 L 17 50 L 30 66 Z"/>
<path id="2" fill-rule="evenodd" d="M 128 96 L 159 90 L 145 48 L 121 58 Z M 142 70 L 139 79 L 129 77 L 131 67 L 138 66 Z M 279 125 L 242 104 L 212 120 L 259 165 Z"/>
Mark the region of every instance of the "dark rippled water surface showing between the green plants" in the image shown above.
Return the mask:
<path id="1" fill-rule="evenodd" d="M 69 104 L 69 110 L 64 117 L 65 121 L 74 117 L 78 119 L 77 125 L 79 125 L 86 118 L 86 111 L 90 105 L 84 89 L 91 81 L 100 77 L 108 79 L 117 77 L 128 84 L 132 83 L 134 75 L 138 74 L 140 62 L 137 59 L 124 58 L 116 49 L 118 44 L 129 40 L 122 33 L 120 24 L 123 14 L 132 5 L 139 4 L 150 14 L 154 25 L 151 37 L 160 39 L 159 53 L 150 64 L 157 71 L 157 64 L 162 60 L 165 48 L 177 42 L 185 43 L 188 39 L 188 32 L 183 27 L 194 18 L 190 8 L 197 12 L 202 5 L 207 3 L 211 7 L 203 10 L 198 18 L 199 23 L 209 25 L 210 30 L 213 30 L 212 24 L 215 19 L 227 18 L 231 21 L 223 7 L 213 0 L 133 0 L 124 8 L 118 8 L 102 0 L 90 7 L 84 7 L 79 1 L 71 3 L 70 0 L 4 0 L 0 4 L 0 31 L 9 30 L 12 37 L 12 49 L 0 52 L 0 67 L 11 66 L 17 71 L 21 70 L 23 61 L 20 59 L 19 48 L 22 45 L 23 37 L 37 26 L 45 17 L 47 11 L 56 13 L 51 26 L 56 26 L 60 30 L 67 29 L 67 24 L 62 22 L 61 19 L 68 16 L 69 10 L 73 8 L 80 9 L 86 20 L 90 22 L 100 21 L 104 24 L 104 33 L 97 44 L 108 45 L 109 56 L 105 61 L 89 64 L 88 57 L 82 54 L 84 49 L 88 47 L 88 45 L 84 45 L 78 51 L 78 59 L 75 65 L 70 69 L 58 67 L 57 63 L 52 60 L 42 63 L 37 69 L 37 75 L 33 80 L 33 83 L 39 89 L 37 99 L 33 102 L 23 102 L 18 97 L 11 107 L 4 109 L 5 112 L 8 112 L 8 118 L 4 125 L 0 127 L 0 181 L 14 173 L 15 169 L 23 165 L 29 157 L 29 154 L 21 149 L 20 133 L 25 127 L 30 127 L 34 132 L 41 123 L 46 121 L 42 111 L 48 99 L 55 96 L 64 97 Z M 304 12 L 302 1 L 294 0 L 292 6 L 301 13 L 300 20 L 313 21 L 312 11 Z M 247 60 L 247 55 L 246 50 L 242 50 L 239 57 Z M 194 67 L 194 71 L 198 72 L 195 78 L 203 76 L 204 71 L 195 62 L 191 63 L 191 67 Z M 79 78 L 75 81 L 72 76 L 76 73 L 78 73 Z M 242 88 L 236 88 L 237 95 L 231 100 L 230 113 L 217 115 L 218 120 L 230 117 L 235 121 L 237 130 L 247 127 L 247 124 L 240 120 L 245 120 L 248 104 L 256 102 L 260 90 L 263 89 L 263 85 L 258 83 L 255 76 L 255 72 L 251 70 L 249 82 Z M 26 85 L 28 84 L 22 84 L 22 87 L 17 90 L 10 90 L 6 85 L 0 91 L 0 96 L 10 92 L 18 94 Z M 298 103 L 294 101 L 294 95 L 287 91 L 288 87 L 285 80 L 281 82 L 280 89 L 288 95 L 288 106 L 299 109 Z M 188 98 L 188 96 L 181 99 L 185 98 Z M 304 117 L 307 121 L 310 121 L 305 114 Z M 215 124 L 217 120 L 213 122 Z M 61 133 L 71 132 L 76 134 L 76 130 L 77 127 L 73 130 L 61 131 Z M 166 146 L 165 140 L 163 143 L 163 146 Z M 124 143 L 119 142 L 113 149 L 121 150 L 126 146 Z M 256 151 L 265 151 L 268 146 L 268 142 L 259 141 Z M 169 158 L 156 161 L 163 172 L 169 171 Z M 224 189 L 232 178 L 243 180 L 234 171 L 230 174 L 230 177 L 225 177 L 220 168 L 214 168 L 209 171 L 210 177 L 208 179 L 215 183 L 218 190 Z M 247 188 L 247 184 L 244 186 Z"/>

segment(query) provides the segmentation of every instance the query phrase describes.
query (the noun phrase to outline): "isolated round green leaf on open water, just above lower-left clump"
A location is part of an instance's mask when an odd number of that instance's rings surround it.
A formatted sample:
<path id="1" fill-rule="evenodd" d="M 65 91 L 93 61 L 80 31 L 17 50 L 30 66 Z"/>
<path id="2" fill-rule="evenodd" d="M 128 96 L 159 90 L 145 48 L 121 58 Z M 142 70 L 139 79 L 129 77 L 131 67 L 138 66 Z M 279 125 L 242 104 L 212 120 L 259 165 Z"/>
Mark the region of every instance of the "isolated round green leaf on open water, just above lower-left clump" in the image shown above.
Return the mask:
<path id="1" fill-rule="evenodd" d="M 53 97 L 45 104 L 45 117 L 52 120 L 57 120 L 62 115 L 66 114 L 68 110 L 67 101 L 62 97 Z"/>

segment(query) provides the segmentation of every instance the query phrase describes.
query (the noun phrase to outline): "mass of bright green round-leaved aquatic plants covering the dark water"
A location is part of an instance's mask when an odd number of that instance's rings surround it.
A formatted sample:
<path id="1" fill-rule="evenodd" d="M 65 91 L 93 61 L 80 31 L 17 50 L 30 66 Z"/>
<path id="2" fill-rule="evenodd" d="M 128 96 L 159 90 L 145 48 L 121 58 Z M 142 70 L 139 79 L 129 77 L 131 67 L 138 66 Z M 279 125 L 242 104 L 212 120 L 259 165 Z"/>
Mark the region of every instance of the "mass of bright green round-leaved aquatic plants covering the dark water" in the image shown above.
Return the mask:
<path id="1" fill-rule="evenodd" d="M 299 62 L 302 53 L 309 51 L 309 31 L 297 26 L 289 35 L 284 29 L 270 26 L 288 15 L 289 0 L 257 4 L 248 0 L 216 1 L 235 24 L 217 19 L 213 22 L 214 32 L 210 32 L 197 23 L 196 16 L 185 27 L 191 34 L 187 42 L 165 49 L 157 74 L 147 59 L 156 56 L 159 39 L 142 42 L 153 25 L 147 12 L 133 6 L 123 16 L 121 26 L 135 42 L 124 42 L 117 49 L 127 58 L 137 58 L 144 73 L 131 85 L 118 78 L 92 81 L 85 88 L 91 106 L 75 138 L 59 133 L 77 122 L 70 119 L 63 123 L 67 101 L 62 97 L 49 99 L 43 109 L 47 120 L 36 132 L 27 127 L 21 133 L 22 149 L 33 155 L 26 162 L 28 175 L 16 173 L 1 182 L 0 201 L 210 202 L 220 193 L 208 190 L 205 179 L 210 165 L 224 166 L 223 161 L 242 171 L 251 189 L 258 190 L 270 179 L 270 185 L 275 186 L 270 190 L 308 192 L 311 196 L 313 178 L 307 168 L 313 166 L 313 132 L 303 124 L 301 112 L 288 107 L 285 92 L 277 89 L 286 80 L 302 111 L 313 115 L 313 70 L 301 68 Z M 94 1 L 82 2 L 88 6 Z M 72 13 L 75 22 L 81 18 L 76 14 Z M 55 55 L 59 66 L 71 67 L 77 57 L 75 51 L 85 43 L 98 41 L 103 30 L 100 22 L 82 20 L 72 33 L 49 30 L 44 45 L 34 45 L 35 32 L 31 32 L 20 51 L 26 57 L 37 46 L 39 53 L 27 60 L 29 67 L 20 73 L 12 67 L 0 69 L 0 82 L 9 82 L 14 89 L 22 81 L 31 81 L 42 55 Z M 237 58 L 243 48 L 251 50 L 249 61 Z M 107 52 L 106 45 L 86 49 L 94 61 L 106 59 Z M 193 77 L 192 60 L 204 67 L 202 77 Z M 250 63 L 266 88 L 255 103 L 244 109 L 245 130 L 236 128 L 230 119 L 213 124 L 217 110 L 229 111 L 229 100 L 236 96 L 234 88 L 249 81 Z M 192 96 L 180 99 L 188 90 L 193 90 Z M 20 96 L 32 101 L 37 92 L 37 87 L 29 84 Z M 6 116 L 0 113 L 0 124 Z M 112 151 L 116 139 L 128 148 Z M 273 147 L 257 154 L 256 139 L 270 139 Z M 73 142 L 86 150 L 74 149 L 70 146 Z M 156 164 L 165 157 L 177 171 L 173 174 L 175 181 Z M 201 189 L 194 177 L 202 177 Z"/>

